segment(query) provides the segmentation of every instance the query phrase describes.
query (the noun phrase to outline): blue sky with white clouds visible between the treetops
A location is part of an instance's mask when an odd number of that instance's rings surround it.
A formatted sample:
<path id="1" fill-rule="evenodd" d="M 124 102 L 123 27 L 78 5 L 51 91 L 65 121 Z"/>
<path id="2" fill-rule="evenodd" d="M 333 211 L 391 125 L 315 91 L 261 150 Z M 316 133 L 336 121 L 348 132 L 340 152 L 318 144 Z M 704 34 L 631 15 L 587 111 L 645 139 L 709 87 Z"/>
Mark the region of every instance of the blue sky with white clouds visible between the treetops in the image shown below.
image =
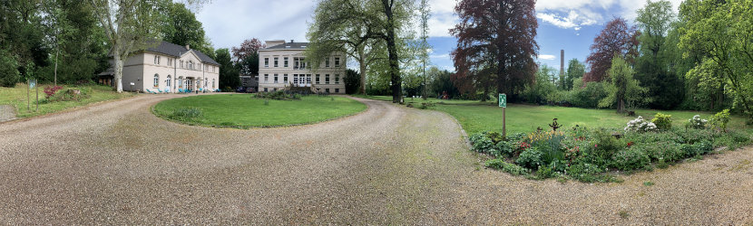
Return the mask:
<path id="1" fill-rule="evenodd" d="M 681 0 L 670 0 L 675 11 Z M 431 61 L 441 69 L 454 71 L 450 52 L 456 40 L 448 33 L 457 22 L 453 11 L 456 0 L 430 0 L 429 43 L 433 46 Z M 642 0 L 538 0 L 539 21 L 538 61 L 559 68 L 560 50 L 565 51 L 565 64 L 572 58 L 585 61 L 593 38 L 603 24 L 614 16 L 633 23 L 635 11 Z M 306 41 L 315 0 L 214 0 L 204 5 L 197 19 L 204 25 L 215 48 L 240 45 L 245 39 Z M 567 66 L 567 65 L 565 65 Z"/>

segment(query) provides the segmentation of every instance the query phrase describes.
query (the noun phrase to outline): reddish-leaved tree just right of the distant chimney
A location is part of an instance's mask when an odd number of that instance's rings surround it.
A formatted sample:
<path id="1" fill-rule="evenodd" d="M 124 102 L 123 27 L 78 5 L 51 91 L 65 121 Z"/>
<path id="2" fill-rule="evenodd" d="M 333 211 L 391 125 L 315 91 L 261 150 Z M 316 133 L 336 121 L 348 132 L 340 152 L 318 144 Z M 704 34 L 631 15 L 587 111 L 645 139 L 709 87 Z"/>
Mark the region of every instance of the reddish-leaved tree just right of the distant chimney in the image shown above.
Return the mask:
<path id="1" fill-rule="evenodd" d="M 638 35 L 635 26 L 615 17 L 604 26 L 599 36 L 593 39 L 591 54 L 586 63 L 591 67 L 583 76 L 583 81 L 601 81 L 607 78 L 607 71 L 611 68 L 611 59 L 620 55 L 622 59 L 633 63 L 638 56 Z"/>

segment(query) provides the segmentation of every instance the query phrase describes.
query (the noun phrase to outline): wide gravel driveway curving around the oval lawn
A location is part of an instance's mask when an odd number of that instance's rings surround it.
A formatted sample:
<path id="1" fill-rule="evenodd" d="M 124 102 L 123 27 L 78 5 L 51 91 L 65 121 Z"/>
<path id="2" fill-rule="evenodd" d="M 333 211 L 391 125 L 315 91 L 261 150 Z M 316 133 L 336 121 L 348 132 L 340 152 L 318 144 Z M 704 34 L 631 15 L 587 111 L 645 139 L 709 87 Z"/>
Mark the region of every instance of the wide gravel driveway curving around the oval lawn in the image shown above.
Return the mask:
<path id="1" fill-rule="evenodd" d="M 483 169 L 441 112 L 359 99 L 316 125 L 217 129 L 150 113 L 174 97 L 0 124 L 0 224 L 753 222 L 751 148 L 561 184 Z"/>

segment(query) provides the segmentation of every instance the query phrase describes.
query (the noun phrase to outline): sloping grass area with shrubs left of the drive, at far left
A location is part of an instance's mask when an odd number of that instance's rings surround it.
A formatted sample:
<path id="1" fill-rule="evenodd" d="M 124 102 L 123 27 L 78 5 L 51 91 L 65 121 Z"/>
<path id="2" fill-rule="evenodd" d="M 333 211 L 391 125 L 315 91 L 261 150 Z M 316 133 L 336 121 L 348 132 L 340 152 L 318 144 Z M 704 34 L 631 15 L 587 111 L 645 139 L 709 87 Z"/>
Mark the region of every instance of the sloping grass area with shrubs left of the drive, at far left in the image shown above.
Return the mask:
<path id="1" fill-rule="evenodd" d="M 44 99 L 45 94 L 43 92 L 45 87 L 52 86 L 51 84 L 44 84 L 39 86 L 39 99 Z M 34 105 L 34 99 L 36 92 L 34 89 L 30 90 L 31 94 L 31 110 L 27 110 L 26 101 L 26 84 L 18 84 L 15 88 L 0 87 L 0 105 L 12 105 L 16 109 L 16 117 L 27 118 L 40 116 L 48 113 L 58 112 L 64 109 L 75 108 L 79 106 L 88 105 L 104 100 L 110 99 L 122 99 L 132 97 L 135 94 L 129 92 L 117 93 L 112 91 L 112 88 L 99 85 L 88 86 L 63 86 L 65 89 L 79 89 L 88 87 L 92 89 L 92 96 L 88 99 L 82 99 L 80 101 L 58 101 L 51 103 L 39 104 L 39 111 L 34 111 L 36 108 Z"/>

